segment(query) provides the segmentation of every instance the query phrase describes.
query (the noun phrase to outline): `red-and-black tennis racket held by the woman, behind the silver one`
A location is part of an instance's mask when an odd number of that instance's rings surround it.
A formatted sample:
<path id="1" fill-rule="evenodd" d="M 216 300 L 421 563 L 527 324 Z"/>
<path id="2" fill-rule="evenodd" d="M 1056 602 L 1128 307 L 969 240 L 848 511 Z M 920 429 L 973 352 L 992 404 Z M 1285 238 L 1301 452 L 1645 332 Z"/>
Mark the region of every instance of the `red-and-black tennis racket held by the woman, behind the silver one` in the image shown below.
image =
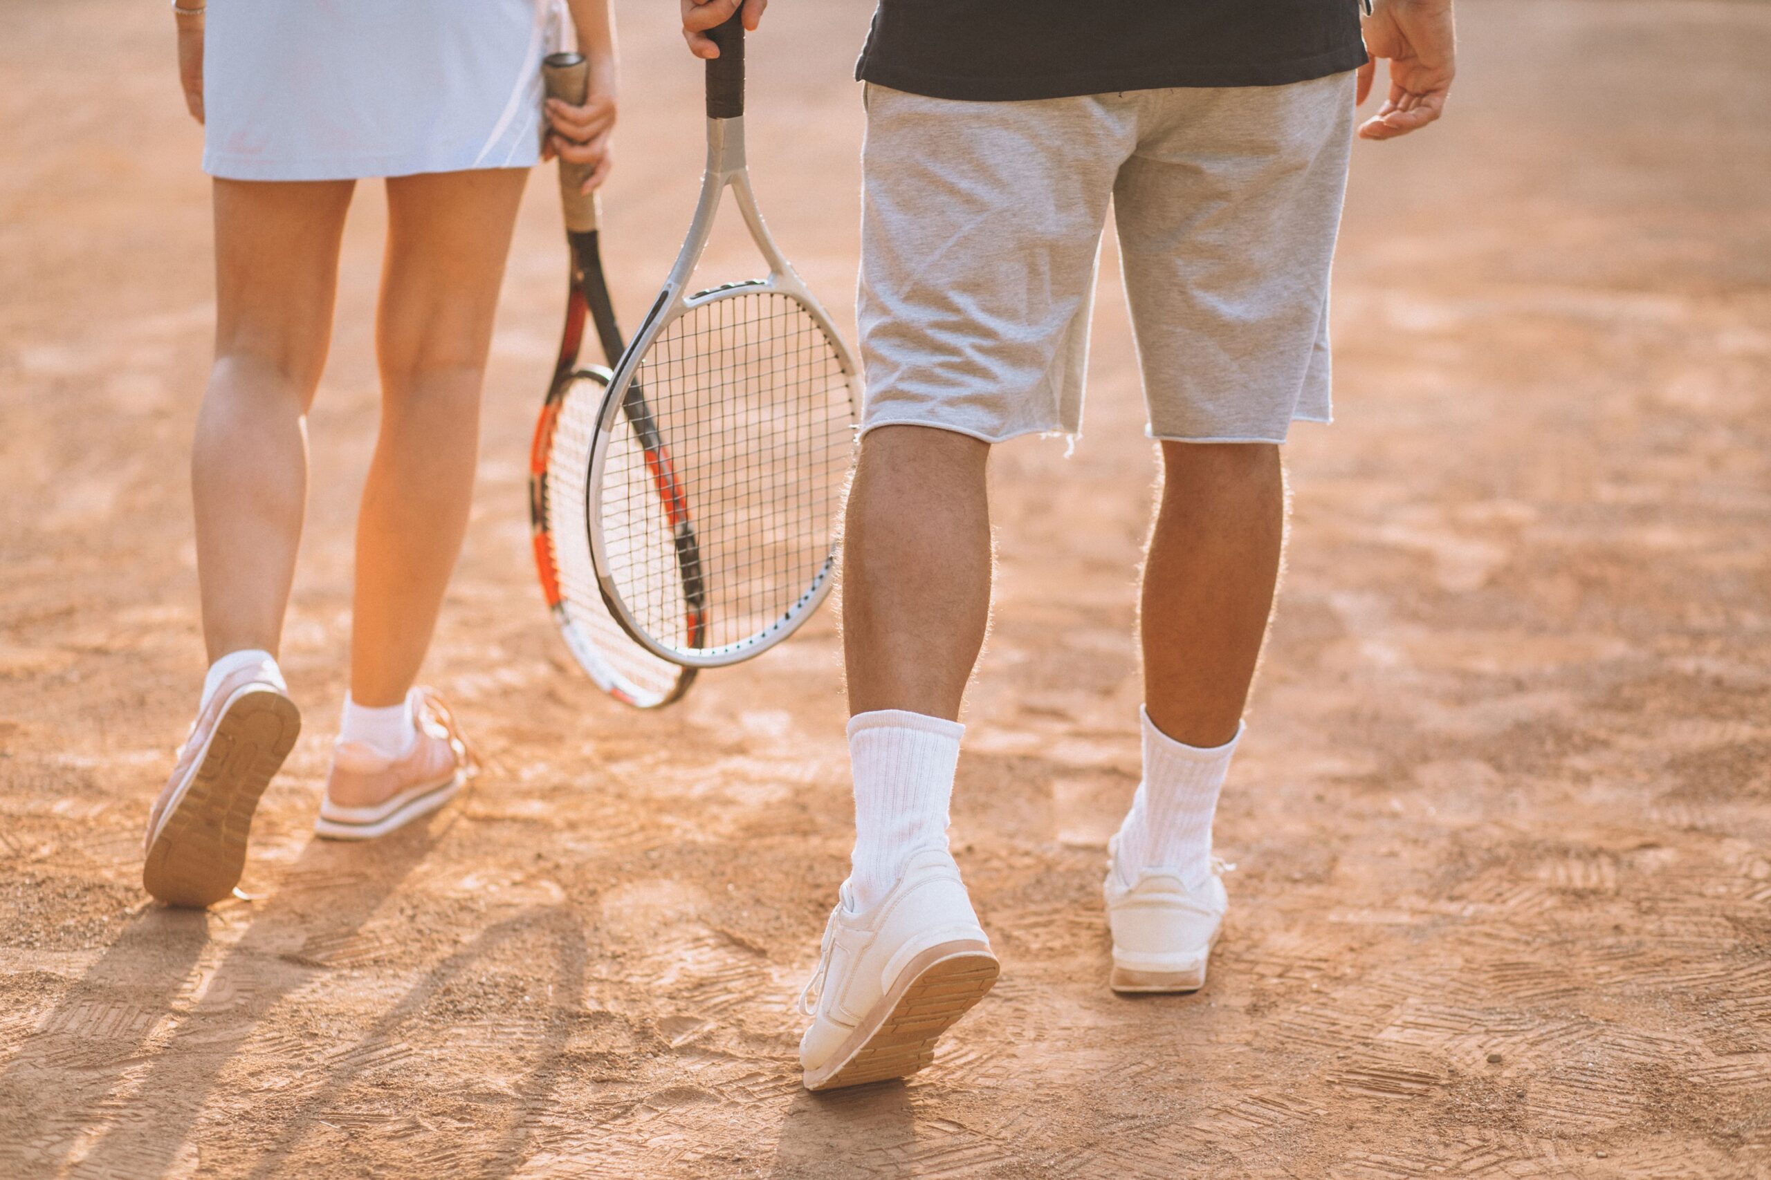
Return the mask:
<path id="1" fill-rule="evenodd" d="M 590 83 L 590 65 L 579 53 L 554 53 L 542 64 L 549 97 L 574 106 L 584 103 Z M 615 322 L 615 306 L 602 276 L 599 249 L 600 209 L 597 195 L 583 195 L 579 188 L 590 173 L 586 165 L 560 161 L 560 198 L 565 205 L 567 242 L 572 248 L 572 281 L 565 304 L 565 331 L 560 334 L 560 361 L 554 364 L 547 402 L 535 425 L 535 444 L 530 449 L 530 524 L 535 534 L 535 570 L 540 575 L 542 594 L 553 612 L 560 635 L 579 667 L 616 701 L 641 709 L 666 706 L 689 690 L 694 669 L 661 660 L 629 639 L 627 632 L 609 614 L 597 586 L 590 556 L 590 524 L 584 518 L 590 474 L 590 446 L 597 432 L 609 387 L 609 370 L 579 363 L 579 345 L 588 318 L 602 343 L 609 364 L 622 356 L 622 329 Z M 664 455 L 650 421 L 645 387 L 629 382 L 618 412 L 629 419 L 627 432 L 645 441 L 652 453 Z M 675 495 L 668 462 L 661 462 L 652 483 L 653 495 Z M 677 513 L 680 515 L 680 513 Z M 678 563 L 673 579 L 657 579 L 652 593 L 661 601 L 655 610 L 678 612 L 685 621 L 701 612 L 701 596 L 692 580 L 700 564 L 694 527 L 671 525 L 673 510 L 661 504 L 655 540 L 671 547 Z M 692 637 L 692 628 L 685 632 Z"/>

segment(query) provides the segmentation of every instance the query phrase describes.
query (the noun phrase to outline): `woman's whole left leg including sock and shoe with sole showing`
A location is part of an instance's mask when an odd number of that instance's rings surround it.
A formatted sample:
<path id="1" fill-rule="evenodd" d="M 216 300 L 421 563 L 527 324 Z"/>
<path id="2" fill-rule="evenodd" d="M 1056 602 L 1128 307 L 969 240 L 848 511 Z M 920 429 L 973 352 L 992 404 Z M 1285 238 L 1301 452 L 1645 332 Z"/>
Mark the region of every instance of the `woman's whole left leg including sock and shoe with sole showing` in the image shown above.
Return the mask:
<path id="1" fill-rule="evenodd" d="M 349 203 L 349 180 L 214 182 L 216 363 L 191 446 L 211 667 L 142 865 L 147 892 L 174 906 L 207 906 L 239 883 L 259 796 L 301 732 L 275 656 Z"/>

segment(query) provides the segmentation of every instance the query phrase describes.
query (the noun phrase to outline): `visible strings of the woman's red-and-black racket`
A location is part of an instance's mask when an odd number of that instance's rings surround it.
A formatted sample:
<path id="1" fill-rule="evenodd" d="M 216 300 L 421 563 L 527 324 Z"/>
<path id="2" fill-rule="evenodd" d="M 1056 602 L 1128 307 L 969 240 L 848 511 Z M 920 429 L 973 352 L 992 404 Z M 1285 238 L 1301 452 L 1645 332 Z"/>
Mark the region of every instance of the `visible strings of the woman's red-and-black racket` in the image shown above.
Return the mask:
<path id="1" fill-rule="evenodd" d="M 584 485 L 590 478 L 590 453 L 602 393 L 600 382 L 579 379 L 560 403 L 547 449 L 544 504 L 547 545 L 560 586 L 560 605 L 567 616 L 565 635 L 574 656 L 602 688 L 629 695 L 636 704 L 655 704 L 677 690 L 682 669 L 657 658 L 622 630 L 602 601 L 590 556 Z M 678 603 L 682 596 L 678 579 Z"/>

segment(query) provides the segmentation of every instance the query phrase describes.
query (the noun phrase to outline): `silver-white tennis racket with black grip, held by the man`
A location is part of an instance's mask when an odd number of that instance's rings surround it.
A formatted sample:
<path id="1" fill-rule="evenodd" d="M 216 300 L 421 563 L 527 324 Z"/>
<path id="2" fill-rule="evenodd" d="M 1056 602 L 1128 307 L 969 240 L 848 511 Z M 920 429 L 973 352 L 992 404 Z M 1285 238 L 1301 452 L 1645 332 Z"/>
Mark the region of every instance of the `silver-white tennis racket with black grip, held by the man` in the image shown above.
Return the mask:
<path id="1" fill-rule="evenodd" d="M 638 644 L 685 667 L 756 656 L 818 609 L 855 446 L 854 357 L 751 191 L 744 27 L 733 16 L 710 35 L 701 198 L 615 366 L 584 490 L 602 596 Z M 769 276 L 687 294 L 728 189 Z M 638 387 L 643 416 L 627 409 Z"/>

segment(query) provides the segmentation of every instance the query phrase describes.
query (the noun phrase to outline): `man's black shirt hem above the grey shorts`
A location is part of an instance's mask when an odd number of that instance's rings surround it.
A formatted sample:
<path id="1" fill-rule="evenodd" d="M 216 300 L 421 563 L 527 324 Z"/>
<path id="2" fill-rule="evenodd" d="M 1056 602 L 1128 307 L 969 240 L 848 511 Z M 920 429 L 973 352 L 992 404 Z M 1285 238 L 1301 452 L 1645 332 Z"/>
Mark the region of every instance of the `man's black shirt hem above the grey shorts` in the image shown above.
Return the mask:
<path id="1" fill-rule="evenodd" d="M 937 99 L 1277 87 L 1365 64 L 1360 0 L 880 0 L 855 78 Z"/>

